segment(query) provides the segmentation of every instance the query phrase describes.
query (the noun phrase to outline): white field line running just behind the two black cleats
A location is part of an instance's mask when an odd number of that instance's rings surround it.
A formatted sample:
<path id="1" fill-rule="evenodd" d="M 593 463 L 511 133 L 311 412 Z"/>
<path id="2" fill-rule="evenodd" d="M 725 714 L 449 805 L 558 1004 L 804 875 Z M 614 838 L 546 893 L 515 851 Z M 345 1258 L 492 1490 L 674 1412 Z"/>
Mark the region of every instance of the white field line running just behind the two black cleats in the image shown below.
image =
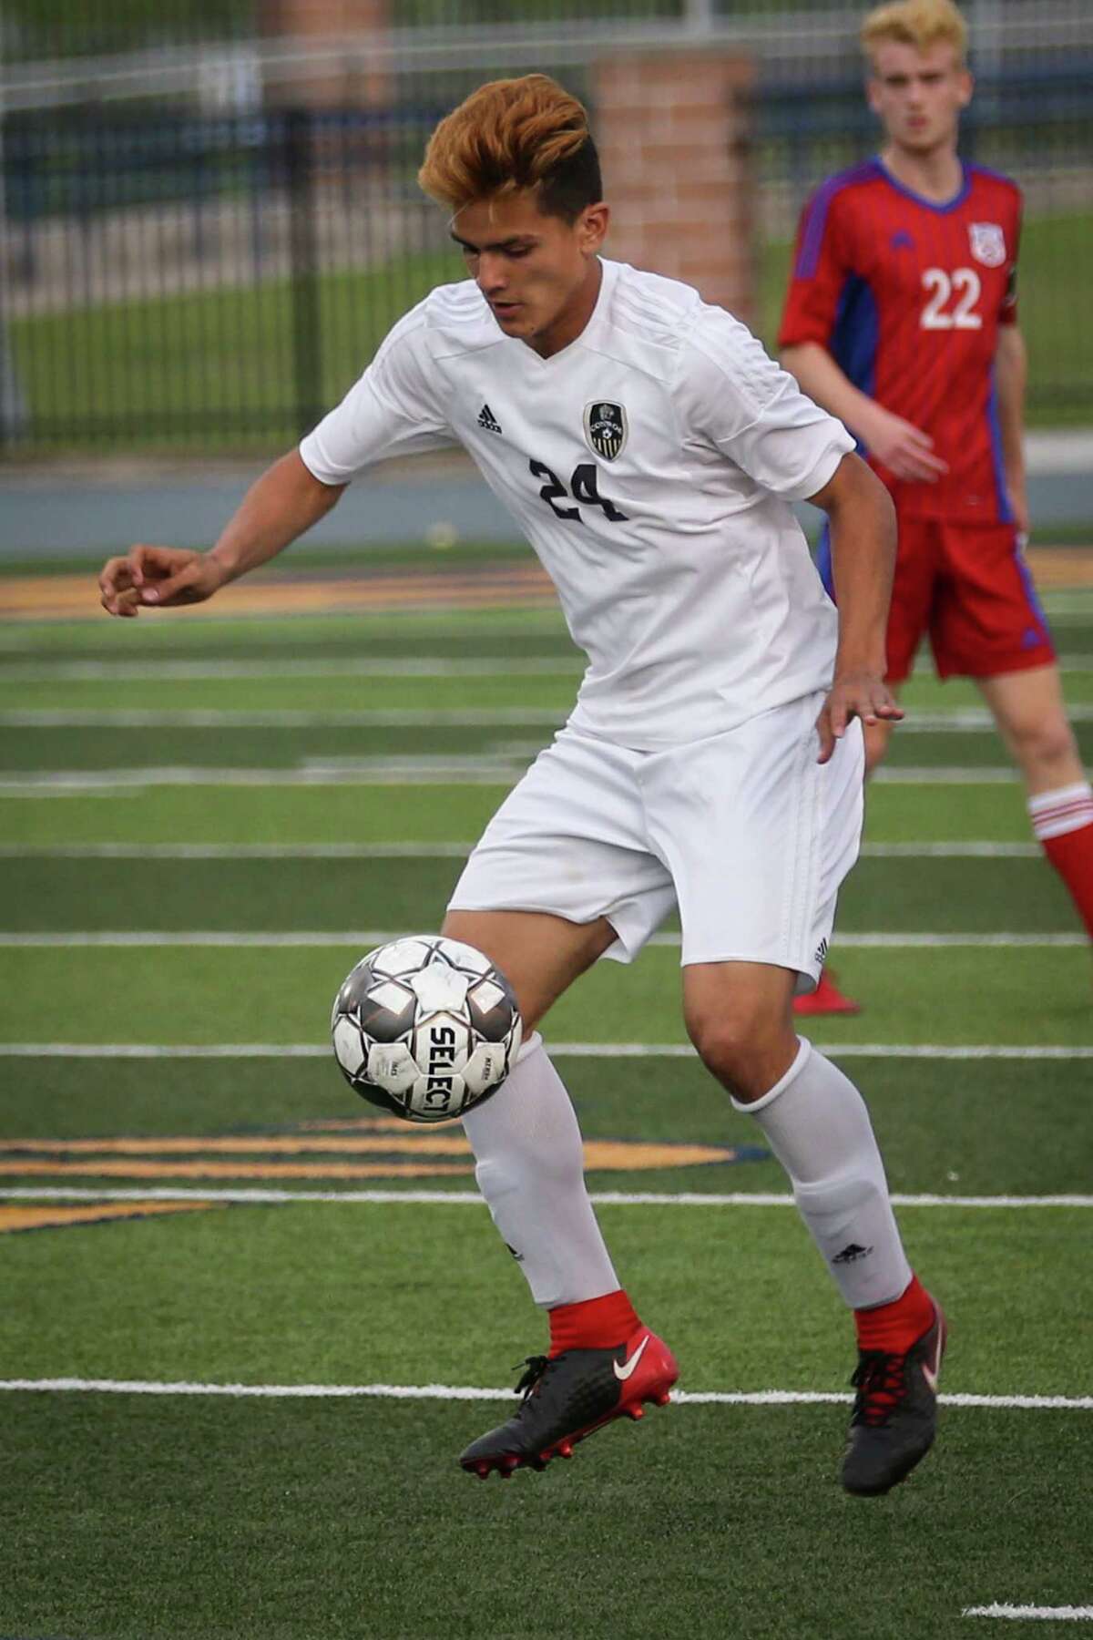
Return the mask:
<path id="1" fill-rule="evenodd" d="M 0 1391 L 39 1391 L 43 1394 L 107 1396 L 231 1396 L 264 1401 L 344 1401 L 349 1397 L 380 1401 L 511 1401 L 513 1389 L 472 1389 L 465 1384 L 195 1384 L 164 1383 L 146 1378 L 0 1378 Z M 683 1407 L 814 1407 L 852 1401 L 842 1391 L 824 1389 L 757 1389 L 757 1391 L 688 1391 L 673 1389 L 672 1402 Z M 939 1396 L 949 1407 L 1005 1407 L 1050 1412 L 1088 1412 L 1093 1396 Z"/>

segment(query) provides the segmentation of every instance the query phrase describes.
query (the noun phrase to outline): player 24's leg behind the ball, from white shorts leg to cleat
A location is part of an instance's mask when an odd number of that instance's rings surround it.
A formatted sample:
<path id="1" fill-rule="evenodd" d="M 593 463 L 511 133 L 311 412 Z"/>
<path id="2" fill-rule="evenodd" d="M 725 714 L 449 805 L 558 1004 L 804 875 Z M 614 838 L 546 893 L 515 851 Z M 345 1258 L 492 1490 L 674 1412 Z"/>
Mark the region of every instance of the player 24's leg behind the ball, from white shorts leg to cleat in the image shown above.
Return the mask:
<path id="1" fill-rule="evenodd" d="M 629 810 L 628 758 L 562 736 L 490 823 L 444 922 L 498 964 L 521 1005 L 518 1063 L 464 1128 L 493 1222 L 551 1330 L 515 1417 L 462 1453 L 483 1478 L 567 1456 L 593 1428 L 667 1401 L 677 1378 L 619 1286 L 588 1200 L 577 1115 L 534 1032 L 578 974 L 606 953 L 628 959 L 670 904 L 667 872 Z M 519 909 L 528 900 L 554 909 Z"/>

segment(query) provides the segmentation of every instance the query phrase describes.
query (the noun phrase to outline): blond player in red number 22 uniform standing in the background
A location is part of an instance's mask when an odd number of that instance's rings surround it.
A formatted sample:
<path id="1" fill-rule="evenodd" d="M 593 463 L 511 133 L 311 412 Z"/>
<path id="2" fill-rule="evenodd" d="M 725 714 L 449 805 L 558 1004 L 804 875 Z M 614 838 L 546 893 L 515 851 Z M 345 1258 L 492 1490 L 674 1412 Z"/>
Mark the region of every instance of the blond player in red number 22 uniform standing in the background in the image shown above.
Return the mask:
<path id="1" fill-rule="evenodd" d="M 896 503 L 890 686 L 908 677 L 924 633 L 942 679 L 975 679 L 1024 777 L 1036 836 L 1093 935 L 1093 794 L 1021 554 L 1021 194 L 957 156 L 965 46 L 950 0 L 895 0 L 865 18 L 885 146 L 806 205 L 778 344 Z M 821 572 L 832 590 L 826 540 Z M 887 725 L 865 740 L 875 768 Z"/>

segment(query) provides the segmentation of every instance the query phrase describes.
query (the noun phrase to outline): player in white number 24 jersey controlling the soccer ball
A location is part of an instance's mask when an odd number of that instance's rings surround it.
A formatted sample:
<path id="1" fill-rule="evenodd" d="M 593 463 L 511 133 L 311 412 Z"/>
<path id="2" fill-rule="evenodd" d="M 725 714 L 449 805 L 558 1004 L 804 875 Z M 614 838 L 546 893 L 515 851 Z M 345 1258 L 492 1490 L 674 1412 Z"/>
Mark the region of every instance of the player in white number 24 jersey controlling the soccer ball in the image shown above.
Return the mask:
<path id="1" fill-rule="evenodd" d="M 934 1438 L 944 1319 L 903 1253 L 862 1097 L 796 1036 L 791 1004 L 816 984 L 857 854 L 860 725 L 901 715 L 883 684 L 891 503 L 742 325 L 601 259 L 595 144 L 556 82 L 475 92 L 433 134 L 421 184 L 451 213 L 469 280 L 393 328 L 210 553 L 110 559 L 103 605 L 206 599 L 379 458 L 470 451 L 554 577 L 588 671 L 444 922 L 508 974 L 524 1017 L 518 1064 L 464 1125 L 551 1327 L 519 1409 L 460 1463 L 483 1478 L 542 1468 L 675 1383 L 619 1286 L 534 1027 L 598 958 L 631 961 L 677 904 L 692 1041 L 760 1125 L 854 1312 L 842 1484 L 885 1492 Z M 837 613 L 790 508 L 801 499 L 831 523 Z"/>

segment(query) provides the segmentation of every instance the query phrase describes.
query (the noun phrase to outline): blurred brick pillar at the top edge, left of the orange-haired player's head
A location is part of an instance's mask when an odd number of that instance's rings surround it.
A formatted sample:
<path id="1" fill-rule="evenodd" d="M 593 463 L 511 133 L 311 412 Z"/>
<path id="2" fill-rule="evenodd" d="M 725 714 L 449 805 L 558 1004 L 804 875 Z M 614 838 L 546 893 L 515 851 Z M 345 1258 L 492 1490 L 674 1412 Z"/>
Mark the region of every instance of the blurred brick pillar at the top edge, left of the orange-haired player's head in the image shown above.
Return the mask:
<path id="1" fill-rule="evenodd" d="M 352 107 L 388 102 L 385 69 L 367 51 L 369 34 L 390 23 L 388 0 L 259 0 L 262 34 L 298 41 L 306 51 L 329 43 L 339 51 L 315 69 L 272 89 L 272 100 L 297 107 Z M 361 51 L 354 51 L 354 41 Z M 349 48 L 349 49 L 341 49 Z"/>

